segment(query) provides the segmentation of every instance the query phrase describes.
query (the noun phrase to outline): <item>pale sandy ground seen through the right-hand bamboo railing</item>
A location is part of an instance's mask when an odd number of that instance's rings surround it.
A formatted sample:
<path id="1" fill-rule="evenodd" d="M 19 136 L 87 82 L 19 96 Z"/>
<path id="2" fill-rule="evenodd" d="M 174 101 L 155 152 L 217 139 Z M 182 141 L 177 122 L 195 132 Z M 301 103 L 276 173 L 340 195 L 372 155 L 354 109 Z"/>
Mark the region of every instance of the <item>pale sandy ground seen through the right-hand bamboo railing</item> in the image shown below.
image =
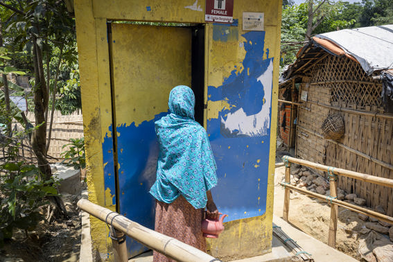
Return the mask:
<path id="1" fill-rule="evenodd" d="M 276 168 L 274 177 L 274 215 L 282 218 L 284 189 L 279 182 L 285 175 L 285 166 Z M 330 207 L 325 200 L 308 198 L 300 193 L 290 193 L 289 222 L 306 234 L 327 244 L 329 234 Z M 360 259 L 358 232 L 365 222 L 358 214 L 339 207 L 336 248 L 355 259 Z"/>

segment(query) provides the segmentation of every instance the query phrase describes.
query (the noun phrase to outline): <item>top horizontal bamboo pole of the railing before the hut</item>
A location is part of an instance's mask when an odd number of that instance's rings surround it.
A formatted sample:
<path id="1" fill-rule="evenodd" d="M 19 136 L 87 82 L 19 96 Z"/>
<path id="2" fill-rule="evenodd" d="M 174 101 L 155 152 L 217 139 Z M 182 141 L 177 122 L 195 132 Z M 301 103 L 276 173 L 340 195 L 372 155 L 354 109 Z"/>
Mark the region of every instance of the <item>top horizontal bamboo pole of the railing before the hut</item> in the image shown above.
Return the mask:
<path id="1" fill-rule="evenodd" d="M 297 159 L 295 157 L 289 157 L 289 156 L 283 156 L 283 157 L 287 157 L 286 159 L 288 159 L 288 161 L 290 161 L 292 163 L 299 164 L 302 166 L 308 166 L 308 167 L 315 168 L 320 171 L 326 172 L 326 171 L 328 171 L 328 168 L 331 168 L 330 166 L 317 164 L 317 163 L 303 160 L 303 159 Z M 387 186 L 387 187 L 393 188 L 393 180 L 387 179 L 385 177 L 375 177 L 373 175 L 367 175 L 367 174 L 363 174 L 363 173 L 353 172 L 353 171 L 349 171 L 349 170 L 342 169 L 342 168 L 334 168 L 334 173 L 336 175 L 342 175 L 344 177 L 351 177 L 356 180 L 361 180 L 363 182 L 369 182 L 369 183 L 379 184 L 381 186 Z"/>

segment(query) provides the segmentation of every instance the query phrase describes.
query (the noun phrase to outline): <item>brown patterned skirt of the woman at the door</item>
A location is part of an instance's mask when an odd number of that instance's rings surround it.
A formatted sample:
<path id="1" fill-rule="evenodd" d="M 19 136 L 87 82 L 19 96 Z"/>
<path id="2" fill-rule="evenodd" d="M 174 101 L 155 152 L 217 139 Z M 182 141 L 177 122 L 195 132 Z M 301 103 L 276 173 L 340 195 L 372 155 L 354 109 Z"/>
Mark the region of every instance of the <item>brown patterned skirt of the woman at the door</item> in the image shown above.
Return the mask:
<path id="1" fill-rule="evenodd" d="M 182 195 L 171 204 L 155 204 L 155 231 L 171 236 L 206 252 L 206 240 L 202 236 L 202 209 L 195 209 Z M 154 262 L 173 261 L 164 254 L 153 252 Z"/>

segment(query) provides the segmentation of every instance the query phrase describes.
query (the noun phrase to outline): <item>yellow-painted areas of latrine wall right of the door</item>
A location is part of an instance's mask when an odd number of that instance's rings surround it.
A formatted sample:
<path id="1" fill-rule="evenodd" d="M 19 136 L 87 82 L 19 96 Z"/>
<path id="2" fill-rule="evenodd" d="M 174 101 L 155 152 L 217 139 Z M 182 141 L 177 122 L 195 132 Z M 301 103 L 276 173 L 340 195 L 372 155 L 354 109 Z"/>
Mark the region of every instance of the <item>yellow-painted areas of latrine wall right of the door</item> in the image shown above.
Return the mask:
<path id="1" fill-rule="evenodd" d="M 243 12 L 263 12 L 265 15 L 265 45 L 269 57 L 273 60 L 272 119 L 270 123 L 270 158 L 268 168 L 268 195 L 266 211 L 263 216 L 225 222 L 225 231 L 218 239 L 208 238 L 208 252 L 212 256 L 230 261 L 270 252 L 272 241 L 272 212 L 274 200 L 274 163 L 277 132 L 277 94 L 279 78 L 279 43 L 281 40 L 281 1 L 234 1 L 234 19 L 237 27 L 227 28 L 226 42 L 213 41 L 213 25 L 208 24 L 207 33 L 207 86 L 220 86 L 232 70 L 243 71 L 245 50 L 242 46 L 247 31 L 242 30 Z M 266 59 L 266 52 L 263 59 Z M 207 94 L 207 93 L 206 93 Z M 207 99 L 207 96 L 205 96 Z M 218 112 L 231 107 L 227 101 L 205 101 L 207 113 L 205 119 L 218 118 Z M 206 126 L 206 123 L 205 123 Z"/>

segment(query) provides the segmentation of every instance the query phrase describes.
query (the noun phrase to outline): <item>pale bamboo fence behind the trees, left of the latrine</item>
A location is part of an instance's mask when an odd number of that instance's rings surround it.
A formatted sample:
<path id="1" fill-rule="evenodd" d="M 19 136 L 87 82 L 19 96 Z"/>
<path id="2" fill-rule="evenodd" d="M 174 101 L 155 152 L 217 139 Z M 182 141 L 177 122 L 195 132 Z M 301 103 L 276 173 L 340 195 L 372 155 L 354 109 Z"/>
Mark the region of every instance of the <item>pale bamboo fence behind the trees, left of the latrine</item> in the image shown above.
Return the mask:
<path id="1" fill-rule="evenodd" d="M 51 112 L 49 112 L 50 115 Z M 27 118 L 32 123 L 35 123 L 34 114 L 27 114 Z M 47 128 L 49 128 L 49 124 Z M 48 134 L 48 132 L 46 133 Z M 59 111 L 55 111 L 48 155 L 60 158 L 60 154 L 63 152 L 62 146 L 69 143 L 71 138 L 81 137 L 83 137 L 82 114 L 74 112 L 73 114 L 63 116 Z"/>

